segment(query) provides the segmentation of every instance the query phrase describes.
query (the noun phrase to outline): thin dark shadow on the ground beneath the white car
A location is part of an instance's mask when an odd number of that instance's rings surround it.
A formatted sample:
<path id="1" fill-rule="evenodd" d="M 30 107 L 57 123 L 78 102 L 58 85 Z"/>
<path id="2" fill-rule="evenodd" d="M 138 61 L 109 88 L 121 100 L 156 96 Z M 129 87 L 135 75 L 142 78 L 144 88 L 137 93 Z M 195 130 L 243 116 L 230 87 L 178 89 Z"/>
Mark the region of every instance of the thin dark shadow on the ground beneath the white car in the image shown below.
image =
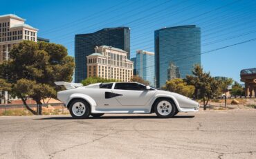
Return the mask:
<path id="1" fill-rule="evenodd" d="M 174 119 L 177 118 L 194 118 L 194 115 L 176 115 L 173 117 Z M 173 118 L 170 118 L 173 119 Z M 89 117 L 88 119 L 93 119 L 93 120 L 104 120 L 104 119 L 166 119 L 166 118 L 158 118 L 157 116 L 102 116 L 102 117 Z M 49 117 L 49 118 L 39 118 L 35 120 L 77 120 L 73 119 L 72 117 Z M 79 120 L 79 119 L 78 119 Z M 86 119 L 82 119 L 86 120 Z"/>

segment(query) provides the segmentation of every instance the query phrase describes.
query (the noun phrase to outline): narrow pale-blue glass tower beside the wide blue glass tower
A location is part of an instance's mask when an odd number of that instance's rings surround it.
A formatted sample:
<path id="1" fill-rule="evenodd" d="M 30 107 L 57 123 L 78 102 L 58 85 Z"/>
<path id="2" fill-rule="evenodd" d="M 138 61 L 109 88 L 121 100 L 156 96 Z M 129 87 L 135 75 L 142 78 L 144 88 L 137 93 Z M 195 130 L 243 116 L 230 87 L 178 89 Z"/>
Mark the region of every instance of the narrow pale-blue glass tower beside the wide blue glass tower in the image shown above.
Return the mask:
<path id="1" fill-rule="evenodd" d="M 150 85 L 154 86 L 154 53 L 137 50 L 136 51 L 136 75 L 148 81 Z"/>

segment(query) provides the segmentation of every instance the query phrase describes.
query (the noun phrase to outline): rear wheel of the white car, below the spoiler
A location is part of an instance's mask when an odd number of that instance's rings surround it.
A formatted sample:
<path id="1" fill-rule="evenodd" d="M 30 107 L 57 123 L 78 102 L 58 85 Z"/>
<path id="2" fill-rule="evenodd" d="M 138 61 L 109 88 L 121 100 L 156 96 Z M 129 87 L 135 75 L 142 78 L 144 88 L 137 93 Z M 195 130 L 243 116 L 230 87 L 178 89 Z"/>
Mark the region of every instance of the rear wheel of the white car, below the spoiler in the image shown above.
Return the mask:
<path id="1" fill-rule="evenodd" d="M 76 106 L 76 107 L 74 107 Z M 74 107 L 74 109 L 73 109 Z M 84 108 L 84 109 L 83 109 Z M 79 109 L 75 112 L 75 109 Z M 73 112 L 74 111 L 74 112 Z M 88 102 L 82 99 L 73 100 L 69 106 L 69 113 L 74 119 L 88 118 L 91 113 L 91 106 Z"/>

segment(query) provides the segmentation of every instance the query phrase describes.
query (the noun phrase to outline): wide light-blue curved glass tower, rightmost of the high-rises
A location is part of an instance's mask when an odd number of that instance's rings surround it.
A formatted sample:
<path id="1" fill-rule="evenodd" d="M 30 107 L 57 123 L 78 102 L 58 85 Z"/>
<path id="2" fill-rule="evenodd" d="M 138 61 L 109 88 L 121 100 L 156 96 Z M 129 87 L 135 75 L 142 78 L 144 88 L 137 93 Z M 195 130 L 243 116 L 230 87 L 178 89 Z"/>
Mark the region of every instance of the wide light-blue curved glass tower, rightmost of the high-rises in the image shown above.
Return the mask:
<path id="1" fill-rule="evenodd" d="M 192 74 L 195 64 L 201 64 L 201 29 L 176 26 L 155 31 L 156 87 L 165 85 L 167 69 L 173 62 L 181 78 Z"/>

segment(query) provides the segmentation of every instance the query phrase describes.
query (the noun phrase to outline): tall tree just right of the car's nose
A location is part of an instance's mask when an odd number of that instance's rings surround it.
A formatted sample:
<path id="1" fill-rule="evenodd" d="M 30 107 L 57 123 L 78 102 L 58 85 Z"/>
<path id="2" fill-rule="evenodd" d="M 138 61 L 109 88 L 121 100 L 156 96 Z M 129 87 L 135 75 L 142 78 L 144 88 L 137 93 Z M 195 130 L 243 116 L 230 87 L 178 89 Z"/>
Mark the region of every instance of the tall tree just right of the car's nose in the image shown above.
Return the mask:
<path id="1" fill-rule="evenodd" d="M 220 82 L 210 76 L 210 73 L 205 73 L 201 66 L 194 66 L 193 75 L 187 75 L 185 82 L 195 87 L 194 96 L 197 99 L 203 99 L 203 110 L 212 97 L 217 97 L 220 94 Z"/>

